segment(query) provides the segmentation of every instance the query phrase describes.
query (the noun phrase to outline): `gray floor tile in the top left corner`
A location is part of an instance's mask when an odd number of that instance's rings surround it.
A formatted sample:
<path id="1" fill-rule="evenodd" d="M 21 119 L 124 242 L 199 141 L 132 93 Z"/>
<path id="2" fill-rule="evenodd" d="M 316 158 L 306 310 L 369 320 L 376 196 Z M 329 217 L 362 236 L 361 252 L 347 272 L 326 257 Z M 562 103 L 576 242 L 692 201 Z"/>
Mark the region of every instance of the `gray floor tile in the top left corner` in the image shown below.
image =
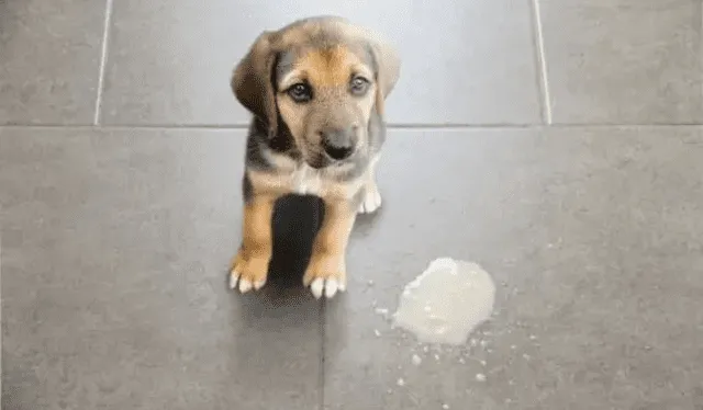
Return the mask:
<path id="1" fill-rule="evenodd" d="M 102 0 L 0 1 L 0 124 L 90 124 Z"/>

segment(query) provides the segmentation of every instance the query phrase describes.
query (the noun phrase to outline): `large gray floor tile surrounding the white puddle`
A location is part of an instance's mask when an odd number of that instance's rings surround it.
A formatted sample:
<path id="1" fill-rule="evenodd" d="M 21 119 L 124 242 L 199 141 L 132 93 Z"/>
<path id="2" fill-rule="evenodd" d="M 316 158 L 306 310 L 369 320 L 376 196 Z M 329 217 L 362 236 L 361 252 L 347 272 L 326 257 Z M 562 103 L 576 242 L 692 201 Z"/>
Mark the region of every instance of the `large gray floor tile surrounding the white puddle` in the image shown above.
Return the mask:
<path id="1" fill-rule="evenodd" d="M 325 408 L 701 408 L 702 156 L 701 128 L 394 133 L 325 307 Z M 476 346 L 376 311 L 438 257 L 496 281 Z"/>

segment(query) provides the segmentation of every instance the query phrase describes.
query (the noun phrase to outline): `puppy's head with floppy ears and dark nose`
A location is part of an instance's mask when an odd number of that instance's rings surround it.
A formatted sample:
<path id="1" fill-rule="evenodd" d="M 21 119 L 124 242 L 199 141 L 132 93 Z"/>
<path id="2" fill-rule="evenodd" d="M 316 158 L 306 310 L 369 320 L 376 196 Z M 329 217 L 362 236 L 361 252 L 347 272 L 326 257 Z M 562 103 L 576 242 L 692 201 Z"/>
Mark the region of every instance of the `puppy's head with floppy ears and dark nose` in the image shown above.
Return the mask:
<path id="1" fill-rule="evenodd" d="M 323 168 L 368 146 L 371 115 L 382 115 L 399 71 L 395 50 L 378 35 L 313 18 L 263 33 L 235 68 L 232 89 L 269 135 L 286 126 L 304 160 Z"/>

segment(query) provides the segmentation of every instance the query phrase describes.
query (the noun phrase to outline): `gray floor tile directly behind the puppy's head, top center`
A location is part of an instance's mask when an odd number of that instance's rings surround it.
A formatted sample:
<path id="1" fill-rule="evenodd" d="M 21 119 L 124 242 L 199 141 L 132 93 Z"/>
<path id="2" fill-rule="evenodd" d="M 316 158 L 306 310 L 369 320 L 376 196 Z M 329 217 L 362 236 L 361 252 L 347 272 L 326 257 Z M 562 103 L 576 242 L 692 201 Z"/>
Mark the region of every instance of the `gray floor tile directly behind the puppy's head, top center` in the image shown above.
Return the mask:
<path id="1" fill-rule="evenodd" d="M 315 14 L 347 16 L 398 44 L 390 122 L 540 122 L 527 0 L 409 4 L 115 1 L 104 122 L 246 123 L 228 88 L 234 64 L 261 31 Z"/>

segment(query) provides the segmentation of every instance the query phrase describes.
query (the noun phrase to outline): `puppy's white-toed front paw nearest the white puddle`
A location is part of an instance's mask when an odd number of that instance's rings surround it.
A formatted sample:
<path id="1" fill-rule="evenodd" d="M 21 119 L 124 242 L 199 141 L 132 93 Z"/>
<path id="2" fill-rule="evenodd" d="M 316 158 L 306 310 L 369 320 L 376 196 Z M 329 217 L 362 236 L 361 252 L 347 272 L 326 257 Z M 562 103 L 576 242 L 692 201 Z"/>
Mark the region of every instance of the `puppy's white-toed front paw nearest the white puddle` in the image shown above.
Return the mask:
<path id="1" fill-rule="evenodd" d="M 312 295 L 320 299 L 324 294 L 331 298 L 347 287 L 347 274 L 344 255 L 313 254 L 303 276 L 303 285 L 310 286 Z"/>

